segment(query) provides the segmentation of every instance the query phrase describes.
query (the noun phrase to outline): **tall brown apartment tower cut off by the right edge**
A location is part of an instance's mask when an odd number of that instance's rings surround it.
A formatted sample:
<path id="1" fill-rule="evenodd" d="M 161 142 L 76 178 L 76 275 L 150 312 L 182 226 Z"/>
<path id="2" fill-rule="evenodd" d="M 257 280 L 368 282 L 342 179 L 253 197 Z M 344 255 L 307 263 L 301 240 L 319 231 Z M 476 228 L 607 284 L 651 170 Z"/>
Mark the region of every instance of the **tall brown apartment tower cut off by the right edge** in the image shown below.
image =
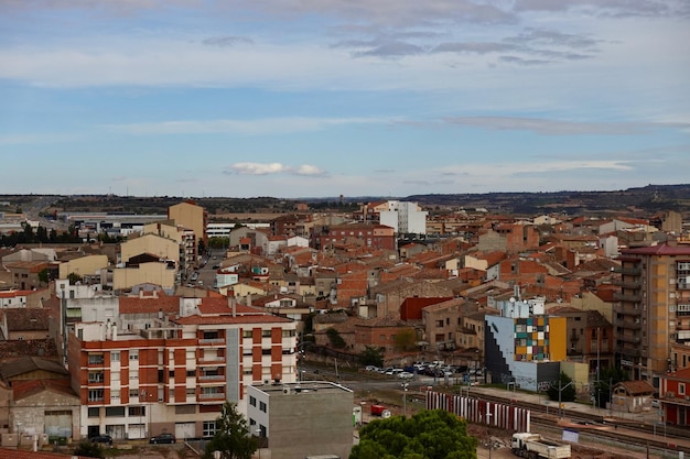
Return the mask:
<path id="1" fill-rule="evenodd" d="M 628 249 L 619 260 L 616 360 L 658 389 L 662 374 L 690 364 L 690 247 Z"/>

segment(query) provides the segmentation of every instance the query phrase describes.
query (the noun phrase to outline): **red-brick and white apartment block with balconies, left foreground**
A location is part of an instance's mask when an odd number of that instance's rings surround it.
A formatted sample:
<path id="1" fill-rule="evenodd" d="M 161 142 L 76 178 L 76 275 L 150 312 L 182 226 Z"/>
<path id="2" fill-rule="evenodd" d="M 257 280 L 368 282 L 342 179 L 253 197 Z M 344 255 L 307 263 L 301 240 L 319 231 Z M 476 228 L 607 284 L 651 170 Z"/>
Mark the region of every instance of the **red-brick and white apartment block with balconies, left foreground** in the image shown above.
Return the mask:
<path id="1" fill-rule="evenodd" d="M 247 386 L 297 379 L 292 320 L 233 297 L 180 298 L 176 314 L 152 304 L 138 316 L 140 327 L 130 314 L 128 329 L 80 323 L 69 335 L 82 437 L 212 436 L 226 401 L 246 412 Z"/>

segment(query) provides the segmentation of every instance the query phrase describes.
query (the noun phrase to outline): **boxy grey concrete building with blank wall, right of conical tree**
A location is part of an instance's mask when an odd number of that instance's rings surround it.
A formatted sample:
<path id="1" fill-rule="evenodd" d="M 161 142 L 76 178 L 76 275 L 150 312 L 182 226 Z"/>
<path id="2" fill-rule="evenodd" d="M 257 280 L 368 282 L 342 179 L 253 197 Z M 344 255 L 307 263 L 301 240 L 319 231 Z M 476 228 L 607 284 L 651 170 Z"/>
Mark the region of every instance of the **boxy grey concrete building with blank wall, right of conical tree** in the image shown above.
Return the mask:
<path id="1" fill-rule="evenodd" d="M 316 455 L 349 457 L 353 447 L 352 390 L 327 381 L 273 383 L 247 387 L 247 418 L 265 437 L 271 459 Z"/>

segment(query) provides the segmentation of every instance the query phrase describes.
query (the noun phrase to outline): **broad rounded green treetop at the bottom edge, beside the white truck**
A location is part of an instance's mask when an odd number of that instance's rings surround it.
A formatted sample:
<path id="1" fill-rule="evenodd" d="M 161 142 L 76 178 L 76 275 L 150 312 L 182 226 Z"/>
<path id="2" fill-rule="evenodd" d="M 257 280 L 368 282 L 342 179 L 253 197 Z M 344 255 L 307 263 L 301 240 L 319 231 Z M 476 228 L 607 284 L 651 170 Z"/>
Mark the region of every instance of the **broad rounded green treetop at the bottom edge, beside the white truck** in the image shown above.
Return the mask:
<path id="1" fill-rule="evenodd" d="M 476 459 L 476 447 L 465 420 L 430 409 L 367 424 L 349 459 Z"/>

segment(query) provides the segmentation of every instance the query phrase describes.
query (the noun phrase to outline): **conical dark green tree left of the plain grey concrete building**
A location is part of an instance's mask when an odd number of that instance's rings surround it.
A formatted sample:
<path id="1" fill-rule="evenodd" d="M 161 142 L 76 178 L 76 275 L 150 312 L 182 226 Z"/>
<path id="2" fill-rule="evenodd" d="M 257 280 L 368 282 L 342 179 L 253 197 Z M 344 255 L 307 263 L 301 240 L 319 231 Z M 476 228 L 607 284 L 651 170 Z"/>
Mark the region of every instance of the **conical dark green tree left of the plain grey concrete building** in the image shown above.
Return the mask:
<path id="1" fill-rule="evenodd" d="M 220 417 L 216 418 L 216 435 L 208 441 L 203 459 L 213 459 L 220 451 L 222 459 L 251 459 L 259 440 L 249 435 L 247 420 L 237 412 L 237 405 L 225 402 Z"/>

